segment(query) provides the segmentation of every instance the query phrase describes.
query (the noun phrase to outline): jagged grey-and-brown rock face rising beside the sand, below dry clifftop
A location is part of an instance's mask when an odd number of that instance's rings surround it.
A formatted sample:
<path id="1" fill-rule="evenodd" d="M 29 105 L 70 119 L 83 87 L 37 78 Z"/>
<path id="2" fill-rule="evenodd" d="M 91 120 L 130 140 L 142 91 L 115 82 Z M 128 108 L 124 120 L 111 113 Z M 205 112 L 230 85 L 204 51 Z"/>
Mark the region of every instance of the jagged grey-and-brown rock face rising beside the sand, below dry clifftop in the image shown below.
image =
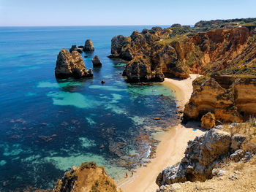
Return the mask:
<path id="1" fill-rule="evenodd" d="M 214 166 L 233 153 L 233 139 L 230 133 L 212 128 L 206 134 L 189 141 L 185 157 L 180 163 L 160 172 L 157 185 L 210 179 Z"/>

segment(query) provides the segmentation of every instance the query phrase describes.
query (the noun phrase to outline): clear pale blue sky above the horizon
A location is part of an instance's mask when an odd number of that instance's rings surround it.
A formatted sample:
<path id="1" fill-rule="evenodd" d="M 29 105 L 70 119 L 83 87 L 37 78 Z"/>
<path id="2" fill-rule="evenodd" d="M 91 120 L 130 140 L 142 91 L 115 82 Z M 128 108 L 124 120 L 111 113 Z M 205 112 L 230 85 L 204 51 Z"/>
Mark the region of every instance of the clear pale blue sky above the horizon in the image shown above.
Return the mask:
<path id="1" fill-rule="evenodd" d="M 0 0 L 0 26 L 193 25 L 255 9 L 256 0 Z"/>

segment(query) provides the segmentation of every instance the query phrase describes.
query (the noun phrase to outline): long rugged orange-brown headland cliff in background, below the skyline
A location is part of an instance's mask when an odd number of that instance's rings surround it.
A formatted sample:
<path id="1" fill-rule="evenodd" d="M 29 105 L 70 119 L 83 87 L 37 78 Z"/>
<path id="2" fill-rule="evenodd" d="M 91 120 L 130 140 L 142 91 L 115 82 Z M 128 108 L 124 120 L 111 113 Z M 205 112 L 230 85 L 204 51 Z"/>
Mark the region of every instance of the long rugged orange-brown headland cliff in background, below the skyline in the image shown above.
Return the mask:
<path id="1" fill-rule="evenodd" d="M 134 31 L 130 37 L 113 37 L 110 57 L 129 61 L 124 69 L 129 82 L 160 82 L 164 77 L 187 78 L 189 73 L 205 75 L 233 67 L 239 71 L 245 64 L 256 67 L 254 28 L 229 26 L 199 32 L 202 28 L 173 26 Z"/>

